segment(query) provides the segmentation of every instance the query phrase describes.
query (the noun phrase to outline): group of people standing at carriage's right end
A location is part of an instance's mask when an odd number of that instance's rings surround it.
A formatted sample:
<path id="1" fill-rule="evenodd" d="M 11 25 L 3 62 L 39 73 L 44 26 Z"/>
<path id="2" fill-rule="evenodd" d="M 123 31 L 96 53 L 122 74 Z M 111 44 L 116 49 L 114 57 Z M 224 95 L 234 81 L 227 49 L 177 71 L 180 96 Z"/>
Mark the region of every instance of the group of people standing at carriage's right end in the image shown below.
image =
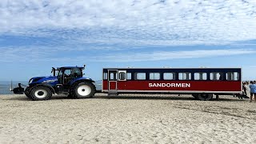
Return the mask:
<path id="1" fill-rule="evenodd" d="M 242 82 L 242 90 L 246 96 L 250 95 L 250 102 L 253 102 L 253 97 L 256 102 L 256 81 Z"/>

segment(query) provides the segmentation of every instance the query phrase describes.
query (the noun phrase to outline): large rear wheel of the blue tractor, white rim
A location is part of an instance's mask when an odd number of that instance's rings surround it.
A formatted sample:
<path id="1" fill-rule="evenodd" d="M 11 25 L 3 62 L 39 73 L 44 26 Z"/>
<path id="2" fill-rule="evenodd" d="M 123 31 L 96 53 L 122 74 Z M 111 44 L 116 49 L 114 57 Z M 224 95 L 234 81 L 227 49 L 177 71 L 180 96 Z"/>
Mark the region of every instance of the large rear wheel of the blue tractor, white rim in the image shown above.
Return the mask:
<path id="1" fill-rule="evenodd" d="M 95 86 L 91 82 L 80 82 L 72 86 L 73 98 L 92 98 L 95 94 Z"/>

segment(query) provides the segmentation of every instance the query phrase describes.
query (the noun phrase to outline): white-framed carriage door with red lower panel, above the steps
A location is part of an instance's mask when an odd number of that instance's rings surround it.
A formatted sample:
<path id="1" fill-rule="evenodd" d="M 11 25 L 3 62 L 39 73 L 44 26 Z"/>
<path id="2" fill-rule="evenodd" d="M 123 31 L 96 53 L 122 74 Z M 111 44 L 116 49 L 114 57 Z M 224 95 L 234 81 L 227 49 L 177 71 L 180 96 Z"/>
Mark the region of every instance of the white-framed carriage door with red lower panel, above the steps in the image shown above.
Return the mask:
<path id="1" fill-rule="evenodd" d="M 108 70 L 109 90 L 118 88 L 118 70 Z"/>

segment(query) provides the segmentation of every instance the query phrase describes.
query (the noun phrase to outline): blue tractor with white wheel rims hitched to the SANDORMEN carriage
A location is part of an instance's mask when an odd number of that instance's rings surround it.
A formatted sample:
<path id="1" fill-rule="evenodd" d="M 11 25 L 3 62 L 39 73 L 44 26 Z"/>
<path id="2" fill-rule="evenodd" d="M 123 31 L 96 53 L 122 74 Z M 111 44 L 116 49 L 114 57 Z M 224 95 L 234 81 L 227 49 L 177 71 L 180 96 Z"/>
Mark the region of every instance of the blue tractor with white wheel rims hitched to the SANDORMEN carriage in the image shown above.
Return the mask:
<path id="1" fill-rule="evenodd" d="M 22 84 L 14 88 L 14 94 L 26 94 L 32 100 L 47 100 L 52 94 L 66 94 L 70 98 L 92 98 L 96 91 L 91 78 L 83 78 L 85 66 L 52 68 L 53 76 L 30 78 L 26 89 Z"/>

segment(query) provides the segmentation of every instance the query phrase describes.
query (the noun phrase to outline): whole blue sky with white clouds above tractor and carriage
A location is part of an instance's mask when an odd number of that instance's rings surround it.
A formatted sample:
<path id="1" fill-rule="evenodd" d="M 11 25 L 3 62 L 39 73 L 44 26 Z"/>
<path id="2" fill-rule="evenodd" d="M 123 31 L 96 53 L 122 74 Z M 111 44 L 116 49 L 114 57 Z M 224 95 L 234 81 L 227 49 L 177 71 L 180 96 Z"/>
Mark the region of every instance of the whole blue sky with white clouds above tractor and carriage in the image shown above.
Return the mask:
<path id="1" fill-rule="evenodd" d="M 0 81 L 83 66 L 242 67 L 256 79 L 256 0 L 1 0 Z"/>

